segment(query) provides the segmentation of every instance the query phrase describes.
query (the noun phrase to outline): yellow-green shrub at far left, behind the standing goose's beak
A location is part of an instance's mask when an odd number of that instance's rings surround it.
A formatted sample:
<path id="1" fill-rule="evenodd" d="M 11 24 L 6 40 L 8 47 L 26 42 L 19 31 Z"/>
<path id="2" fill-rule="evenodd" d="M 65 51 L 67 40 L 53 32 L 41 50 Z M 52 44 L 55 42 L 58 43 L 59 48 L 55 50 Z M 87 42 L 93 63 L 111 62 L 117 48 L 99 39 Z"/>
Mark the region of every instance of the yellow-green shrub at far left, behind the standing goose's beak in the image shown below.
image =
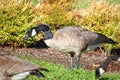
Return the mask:
<path id="1" fill-rule="evenodd" d="M 37 22 L 31 3 L 24 0 L 0 0 L 0 44 L 20 46 L 28 27 Z"/>

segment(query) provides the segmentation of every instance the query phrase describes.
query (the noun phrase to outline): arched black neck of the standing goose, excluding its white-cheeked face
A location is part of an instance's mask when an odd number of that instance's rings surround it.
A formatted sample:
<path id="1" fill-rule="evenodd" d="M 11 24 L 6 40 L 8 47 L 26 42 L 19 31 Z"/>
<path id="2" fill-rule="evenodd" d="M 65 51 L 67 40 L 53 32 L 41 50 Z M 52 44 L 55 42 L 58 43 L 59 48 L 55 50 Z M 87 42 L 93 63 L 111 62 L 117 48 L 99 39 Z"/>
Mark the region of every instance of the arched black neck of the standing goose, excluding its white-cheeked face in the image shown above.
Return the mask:
<path id="1" fill-rule="evenodd" d="M 40 31 L 44 32 L 44 40 L 51 39 L 53 37 L 53 34 L 47 25 L 41 24 L 41 25 L 37 26 L 36 32 L 39 33 Z"/>

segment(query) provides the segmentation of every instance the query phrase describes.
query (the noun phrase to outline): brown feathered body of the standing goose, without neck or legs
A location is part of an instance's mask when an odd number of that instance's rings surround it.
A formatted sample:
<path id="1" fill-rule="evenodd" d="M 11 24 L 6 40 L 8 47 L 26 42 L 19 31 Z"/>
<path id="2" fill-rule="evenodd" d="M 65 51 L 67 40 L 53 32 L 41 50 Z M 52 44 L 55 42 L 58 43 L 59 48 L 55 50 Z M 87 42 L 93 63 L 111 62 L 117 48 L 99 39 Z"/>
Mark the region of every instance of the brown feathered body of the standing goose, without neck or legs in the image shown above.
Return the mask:
<path id="1" fill-rule="evenodd" d="M 63 52 L 75 52 L 77 55 L 85 50 L 94 49 L 102 43 L 110 42 L 111 39 L 102 34 L 71 26 L 59 29 L 52 39 L 45 40 L 45 43 L 52 48 Z"/>

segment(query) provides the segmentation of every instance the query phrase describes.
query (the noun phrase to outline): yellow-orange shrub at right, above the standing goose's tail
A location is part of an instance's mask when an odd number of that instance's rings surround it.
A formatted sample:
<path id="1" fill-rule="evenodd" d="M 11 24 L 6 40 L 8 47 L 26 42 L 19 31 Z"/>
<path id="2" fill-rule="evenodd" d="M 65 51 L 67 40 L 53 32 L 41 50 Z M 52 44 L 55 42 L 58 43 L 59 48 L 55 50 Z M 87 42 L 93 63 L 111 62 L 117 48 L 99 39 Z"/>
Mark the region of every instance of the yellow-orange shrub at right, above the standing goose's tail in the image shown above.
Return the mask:
<path id="1" fill-rule="evenodd" d="M 87 29 L 102 33 L 118 43 L 120 42 L 120 31 L 118 31 L 120 27 L 118 25 L 120 21 L 120 5 L 95 0 L 91 2 L 88 8 L 79 9 L 78 13 L 80 18 L 76 18 L 77 25 L 82 25 Z"/>

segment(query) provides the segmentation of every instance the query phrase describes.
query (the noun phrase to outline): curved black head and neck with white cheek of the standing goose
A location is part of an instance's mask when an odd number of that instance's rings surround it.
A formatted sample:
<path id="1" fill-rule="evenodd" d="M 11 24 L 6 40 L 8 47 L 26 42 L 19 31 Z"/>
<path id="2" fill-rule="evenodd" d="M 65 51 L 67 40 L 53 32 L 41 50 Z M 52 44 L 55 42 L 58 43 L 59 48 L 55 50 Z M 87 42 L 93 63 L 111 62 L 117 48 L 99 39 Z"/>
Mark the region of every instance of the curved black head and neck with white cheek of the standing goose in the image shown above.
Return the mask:
<path id="1" fill-rule="evenodd" d="M 37 35 L 41 31 L 44 32 L 44 40 L 51 39 L 53 37 L 50 28 L 45 24 L 40 24 L 37 27 L 29 28 L 26 32 L 25 37 L 23 38 L 23 41 Z"/>

